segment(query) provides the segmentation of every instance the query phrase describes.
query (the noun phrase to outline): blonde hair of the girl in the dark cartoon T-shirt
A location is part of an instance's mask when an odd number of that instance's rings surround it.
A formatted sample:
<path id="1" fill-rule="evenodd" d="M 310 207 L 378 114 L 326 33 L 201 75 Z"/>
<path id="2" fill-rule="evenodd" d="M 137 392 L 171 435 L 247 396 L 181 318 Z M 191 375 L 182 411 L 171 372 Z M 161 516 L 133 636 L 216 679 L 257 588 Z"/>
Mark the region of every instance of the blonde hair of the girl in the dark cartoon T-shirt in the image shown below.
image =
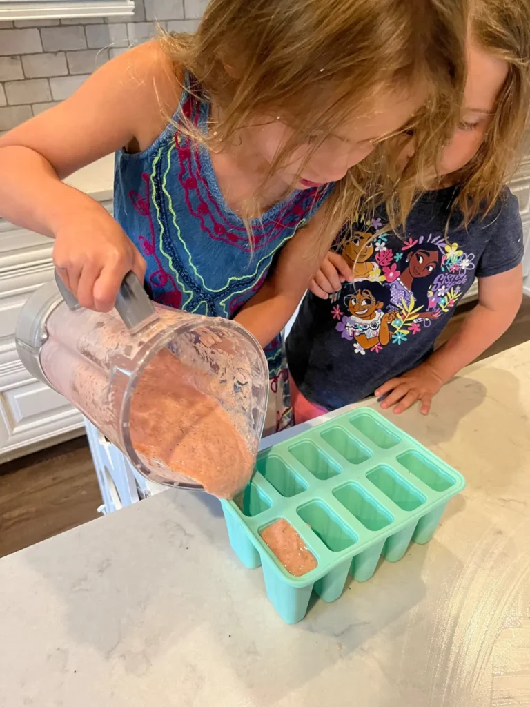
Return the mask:
<path id="1" fill-rule="evenodd" d="M 464 224 L 495 206 L 520 154 L 530 111 L 530 1 L 476 0 L 471 37 L 486 52 L 508 64 L 488 133 L 476 155 L 457 173 L 454 206 Z"/>

